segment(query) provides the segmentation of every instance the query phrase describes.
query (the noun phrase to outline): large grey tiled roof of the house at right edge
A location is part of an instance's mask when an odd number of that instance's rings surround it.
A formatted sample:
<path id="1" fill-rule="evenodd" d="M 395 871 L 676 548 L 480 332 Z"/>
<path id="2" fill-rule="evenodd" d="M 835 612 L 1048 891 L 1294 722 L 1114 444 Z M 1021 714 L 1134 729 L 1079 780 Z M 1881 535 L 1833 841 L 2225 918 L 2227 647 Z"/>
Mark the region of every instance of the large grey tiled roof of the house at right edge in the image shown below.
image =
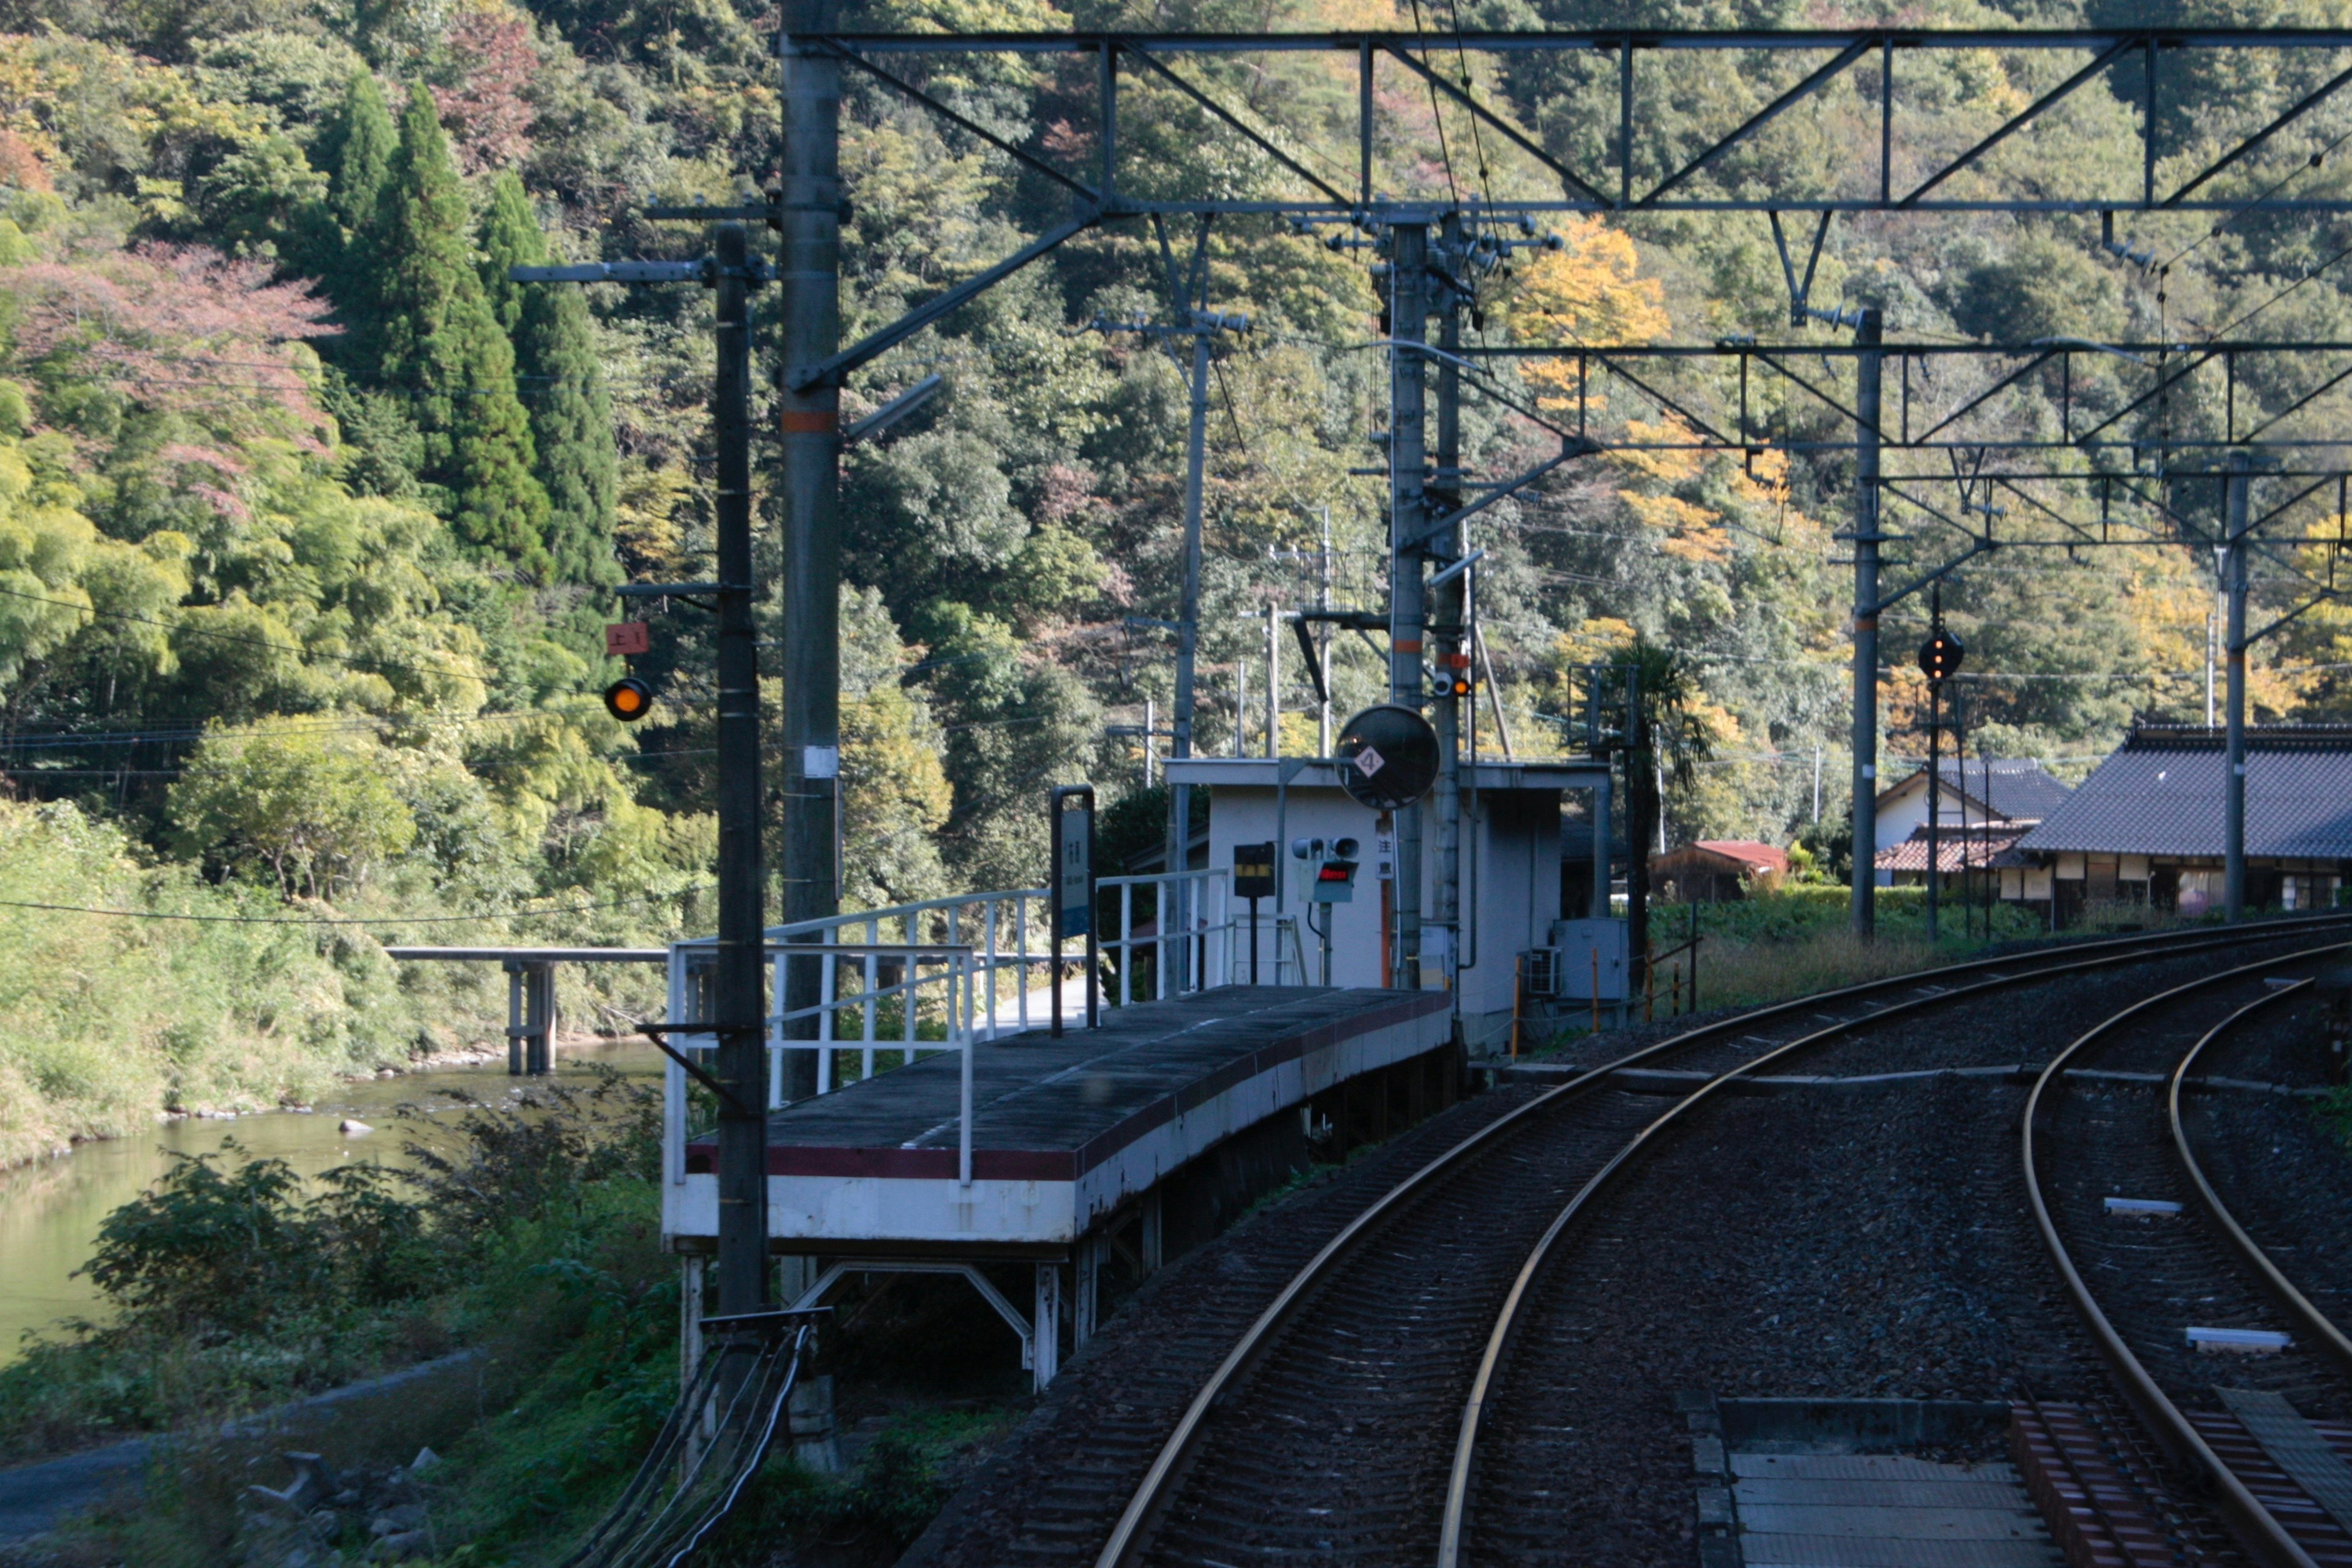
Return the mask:
<path id="1" fill-rule="evenodd" d="M 2223 780 L 2223 731 L 2145 724 L 2018 846 L 2218 856 Z M 2249 726 L 2246 853 L 2352 860 L 2352 726 Z"/>

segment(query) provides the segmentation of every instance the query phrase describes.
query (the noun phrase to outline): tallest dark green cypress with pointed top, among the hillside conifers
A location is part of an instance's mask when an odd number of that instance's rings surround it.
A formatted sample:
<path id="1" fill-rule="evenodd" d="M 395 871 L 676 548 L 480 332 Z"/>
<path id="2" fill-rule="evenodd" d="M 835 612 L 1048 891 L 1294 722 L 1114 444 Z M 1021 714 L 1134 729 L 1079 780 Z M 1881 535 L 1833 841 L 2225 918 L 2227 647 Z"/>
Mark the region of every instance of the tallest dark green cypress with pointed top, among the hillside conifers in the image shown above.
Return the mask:
<path id="1" fill-rule="evenodd" d="M 532 475 L 532 428 L 515 397 L 515 346 L 499 329 L 466 244 L 466 190 L 433 96 L 400 115 L 367 235 L 376 268 L 379 360 L 412 400 L 426 484 L 466 543 L 548 571 L 548 494 Z"/>

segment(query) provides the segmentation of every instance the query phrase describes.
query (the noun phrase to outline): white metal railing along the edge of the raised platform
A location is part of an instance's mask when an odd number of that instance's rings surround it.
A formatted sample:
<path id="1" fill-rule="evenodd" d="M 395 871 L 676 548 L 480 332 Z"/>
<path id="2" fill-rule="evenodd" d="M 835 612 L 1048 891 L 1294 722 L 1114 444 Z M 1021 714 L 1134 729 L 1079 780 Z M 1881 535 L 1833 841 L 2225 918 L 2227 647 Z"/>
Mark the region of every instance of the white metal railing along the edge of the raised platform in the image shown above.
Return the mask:
<path id="1" fill-rule="evenodd" d="M 1103 1004 L 1129 1006 L 1249 983 L 1256 938 L 1249 922 L 1235 917 L 1228 886 L 1225 870 L 1098 879 L 1098 891 L 1117 893 L 1117 929 L 1096 938 L 1101 957 L 1117 971 L 1115 997 L 1105 994 Z M 1044 1025 L 1051 992 L 1040 994 L 1033 971 L 1044 969 L 1047 985 L 1063 983 L 1063 966 L 1084 971 L 1084 938 L 1063 943 L 1061 954 L 1051 950 L 1047 896 L 1047 889 L 964 893 L 769 926 L 769 1110 L 786 1103 L 786 1051 L 816 1053 L 821 1095 L 887 1072 L 880 1053 L 896 1053 L 891 1065 L 906 1065 L 920 1056 L 957 1051 L 960 1171 L 971 1180 L 971 1046 L 993 1041 L 1000 1032 Z M 1143 933 L 1138 914 L 1148 926 Z M 1296 914 L 1270 914 L 1263 929 L 1272 943 L 1272 983 L 1312 983 Z M 1136 971 L 1143 954 L 1150 954 L 1150 994 L 1138 997 Z M 710 938 L 670 945 L 670 1018 L 710 1016 L 708 976 L 715 959 L 717 943 Z M 814 999 L 802 1006 L 793 1006 L 788 992 L 795 966 L 802 966 L 802 978 L 814 969 L 816 980 Z M 1063 1018 L 1065 1027 L 1084 1027 L 1084 1001 L 1065 997 Z M 677 1051 L 717 1046 L 710 1034 L 670 1034 L 668 1041 Z M 851 1053 L 856 1079 L 842 1074 L 840 1058 Z M 663 1095 L 663 1166 L 677 1182 L 684 1180 L 687 1138 L 687 1070 L 673 1060 Z"/>

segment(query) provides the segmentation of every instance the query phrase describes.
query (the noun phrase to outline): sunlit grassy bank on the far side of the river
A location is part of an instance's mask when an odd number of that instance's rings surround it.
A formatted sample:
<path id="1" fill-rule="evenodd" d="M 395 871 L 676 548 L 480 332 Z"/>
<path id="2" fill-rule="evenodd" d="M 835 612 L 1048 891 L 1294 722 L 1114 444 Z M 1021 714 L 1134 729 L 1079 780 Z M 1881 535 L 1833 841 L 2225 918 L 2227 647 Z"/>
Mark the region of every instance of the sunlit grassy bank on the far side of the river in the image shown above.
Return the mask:
<path id="1" fill-rule="evenodd" d="M 673 919 L 644 903 L 517 936 L 395 882 L 289 903 L 158 860 L 71 804 L 0 799 L 0 1171 L 167 1117 L 249 1117 L 353 1074 L 503 1053 L 496 964 L 395 964 L 383 943 L 644 945 Z M 574 966 L 562 987 L 581 1020 L 661 1006 L 661 976 L 626 966 Z"/>

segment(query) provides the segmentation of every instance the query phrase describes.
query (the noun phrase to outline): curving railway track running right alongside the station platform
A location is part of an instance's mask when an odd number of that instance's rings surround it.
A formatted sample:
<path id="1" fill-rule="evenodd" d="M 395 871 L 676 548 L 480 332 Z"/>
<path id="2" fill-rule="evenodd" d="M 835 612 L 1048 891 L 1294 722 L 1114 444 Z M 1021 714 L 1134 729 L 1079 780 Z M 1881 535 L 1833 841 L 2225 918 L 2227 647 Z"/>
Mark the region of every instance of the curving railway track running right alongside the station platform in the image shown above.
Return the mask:
<path id="1" fill-rule="evenodd" d="M 1399 1180 L 1298 1267 L 1195 1389 L 1096 1566 L 1515 1556 L 1479 1537 L 1477 1481 L 1519 1324 L 1562 1239 L 1668 1128 L 1743 1077 L 1896 1018 L 2314 926 L 2340 919 L 2117 938 L 1877 980 L 1686 1030 L 1526 1100 Z M 1710 1077 L 1665 1114 L 1609 1088 L 1611 1072 L 1668 1058 Z M 1508 1512 L 1512 1530 L 1557 1554 L 1557 1533 Z"/>

